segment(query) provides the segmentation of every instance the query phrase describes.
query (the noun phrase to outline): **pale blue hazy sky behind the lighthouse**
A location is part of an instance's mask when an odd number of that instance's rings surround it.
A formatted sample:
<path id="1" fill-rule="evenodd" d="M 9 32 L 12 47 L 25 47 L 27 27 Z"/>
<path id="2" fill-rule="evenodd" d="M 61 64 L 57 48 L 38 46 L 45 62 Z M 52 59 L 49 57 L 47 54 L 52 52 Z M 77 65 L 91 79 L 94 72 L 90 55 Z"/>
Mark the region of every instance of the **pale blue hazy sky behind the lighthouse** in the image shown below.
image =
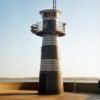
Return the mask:
<path id="1" fill-rule="evenodd" d="M 30 26 L 52 0 L 0 0 L 0 77 L 39 75 L 42 38 Z M 66 22 L 60 39 L 64 77 L 100 77 L 100 0 L 57 0 Z"/>

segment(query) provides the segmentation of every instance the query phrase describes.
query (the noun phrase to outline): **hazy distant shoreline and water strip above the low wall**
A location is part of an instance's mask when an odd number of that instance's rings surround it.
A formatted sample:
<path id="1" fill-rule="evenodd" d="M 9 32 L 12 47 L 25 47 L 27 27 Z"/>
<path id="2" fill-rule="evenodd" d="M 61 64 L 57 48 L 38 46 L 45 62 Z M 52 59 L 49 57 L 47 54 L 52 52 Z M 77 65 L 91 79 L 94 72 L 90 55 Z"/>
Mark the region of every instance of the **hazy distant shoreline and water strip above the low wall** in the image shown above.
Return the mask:
<path id="1" fill-rule="evenodd" d="M 98 83 L 99 78 L 63 78 L 64 83 Z M 0 82 L 39 82 L 39 78 L 0 78 Z"/>

